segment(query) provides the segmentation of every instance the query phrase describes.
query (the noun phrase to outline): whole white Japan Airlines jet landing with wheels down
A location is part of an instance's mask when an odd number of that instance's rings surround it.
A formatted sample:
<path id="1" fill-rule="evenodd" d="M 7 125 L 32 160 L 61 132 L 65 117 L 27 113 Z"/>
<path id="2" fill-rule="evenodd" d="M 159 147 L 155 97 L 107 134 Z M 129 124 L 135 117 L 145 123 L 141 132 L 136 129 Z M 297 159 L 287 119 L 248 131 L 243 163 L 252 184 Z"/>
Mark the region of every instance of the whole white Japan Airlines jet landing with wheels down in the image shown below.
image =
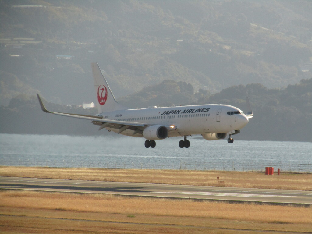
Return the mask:
<path id="1" fill-rule="evenodd" d="M 97 63 L 91 63 L 97 100 L 97 115 L 80 115 L 52 112 L 46 110 L 40 96 L 37 94 L 41 110 L 55 115 L 88 119 L 91 123 L 108 129 L 117 134 L 145 138 L 146 148 L 155 148 L 155 140 L 168 137 L 184 137 L 179 141 L 180 148 L 189 148 L 188 136 L 201 134 L 206 140 L 225 139 L 233 143 L 232 135 L 240 133 L 253 117 L 248 97 L 246 103 L 248 112 L 245 115 L 240 109 L 231 105 L 187 105 L 157 107 L 149 106 L 143 109 L 125 109 L 120 105 L 108 85 Z"/>

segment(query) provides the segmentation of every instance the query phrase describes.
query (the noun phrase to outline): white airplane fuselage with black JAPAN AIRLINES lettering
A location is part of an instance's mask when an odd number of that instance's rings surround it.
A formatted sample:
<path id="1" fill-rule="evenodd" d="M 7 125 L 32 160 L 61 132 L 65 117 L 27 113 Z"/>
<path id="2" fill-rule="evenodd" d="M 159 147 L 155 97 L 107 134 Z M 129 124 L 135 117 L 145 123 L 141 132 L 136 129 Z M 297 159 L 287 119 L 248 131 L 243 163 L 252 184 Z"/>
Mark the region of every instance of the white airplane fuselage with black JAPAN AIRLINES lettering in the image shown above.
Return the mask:
<path id="1" fill-rule="evenodd" d="M 230 105 L 189 105 L 174 107 L 150 107 L 144 109 L 117 110 L 101 113 L 104 119 L 144 123 L 150 125 L 174 125 L 169 137 L 207 133 L 228 133 L 243 128 L 248 119 L 238 108 Z M 114 132 L 119 129 L 107 128 Z M 120 134 L 143 137 L 126 129 Z"/>

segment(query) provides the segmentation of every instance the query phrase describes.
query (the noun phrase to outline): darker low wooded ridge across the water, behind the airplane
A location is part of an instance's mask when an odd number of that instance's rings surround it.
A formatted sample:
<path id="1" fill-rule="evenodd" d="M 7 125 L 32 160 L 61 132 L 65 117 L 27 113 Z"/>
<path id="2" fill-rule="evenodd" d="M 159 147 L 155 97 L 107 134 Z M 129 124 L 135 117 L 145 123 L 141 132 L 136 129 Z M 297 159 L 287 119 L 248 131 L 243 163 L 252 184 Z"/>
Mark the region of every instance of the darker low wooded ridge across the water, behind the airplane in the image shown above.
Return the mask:
<path id="1" fill-rule="evenodd" d="M 312 141 L 312 78 L 301 80 L 285 89 L 268 89 L 261 84 L 231 86 L 214 95 L 199 90 L 193 92 L 191 84 L 163 81 L 119 100 L 129 108 L 148 105 L 228 104 L 246 111 L 249 96 L 254 118 L 235 135 L 235 139 Z M 45 101 L 46 103 L 46 101 Z M 97 114 L 97 109 L 84 110 L 77 106 L 46 103 L 48 110 L 86 115 Z M 7 107 L 0 107 L 0 132 L 19 134 L 76 134 L 107 135 L 108 133 L 87 120 L 73 119 L 41 111 L 37 97 L 19 95 Z"/>

